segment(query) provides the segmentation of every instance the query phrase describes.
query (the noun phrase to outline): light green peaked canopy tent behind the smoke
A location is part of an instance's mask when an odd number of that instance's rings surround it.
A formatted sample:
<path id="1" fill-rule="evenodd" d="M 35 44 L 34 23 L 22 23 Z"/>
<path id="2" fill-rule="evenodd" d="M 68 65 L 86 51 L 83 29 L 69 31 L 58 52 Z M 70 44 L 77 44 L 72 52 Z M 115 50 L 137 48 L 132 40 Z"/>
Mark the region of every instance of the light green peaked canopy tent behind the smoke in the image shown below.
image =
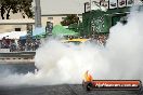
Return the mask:
<path id="1" fill-rule="evenodd" d="M 78 36 L 78 32 L 64 28 L 62 25 L 55 25 L 52 30 L 53 36 Z"/>

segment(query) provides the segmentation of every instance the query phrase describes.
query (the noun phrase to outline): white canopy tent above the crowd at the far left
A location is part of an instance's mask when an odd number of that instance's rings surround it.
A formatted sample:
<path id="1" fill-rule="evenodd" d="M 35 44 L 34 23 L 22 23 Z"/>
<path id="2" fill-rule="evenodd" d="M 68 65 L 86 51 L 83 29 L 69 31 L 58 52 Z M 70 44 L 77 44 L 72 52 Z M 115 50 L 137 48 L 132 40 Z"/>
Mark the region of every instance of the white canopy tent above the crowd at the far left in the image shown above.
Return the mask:
<path id="1" fill-rule="evenodd" d="M 20 39 L 20 37 L 25 36 L 27 31 L 11 31 L 11 32 L 3 32 L 0 33 L 0 40 L 2 38 L 6 39 Z"/>

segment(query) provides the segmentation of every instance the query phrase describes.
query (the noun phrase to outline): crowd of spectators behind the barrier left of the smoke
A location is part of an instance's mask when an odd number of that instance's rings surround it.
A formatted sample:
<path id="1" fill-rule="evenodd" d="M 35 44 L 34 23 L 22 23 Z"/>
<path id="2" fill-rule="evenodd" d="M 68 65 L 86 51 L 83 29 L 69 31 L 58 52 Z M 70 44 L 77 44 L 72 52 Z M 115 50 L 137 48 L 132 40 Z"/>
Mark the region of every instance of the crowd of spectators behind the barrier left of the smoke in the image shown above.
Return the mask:
<path id="1" fill-rule="evenodd" d="M 36 51 L 40 45 L 40 40 L 32 39 L 30 42 L 24 40 L 15 39 L 5 39 L 0 40 L 0 49 L 9 49 L 10 52 L 20 52 L 20 51 Z"/>

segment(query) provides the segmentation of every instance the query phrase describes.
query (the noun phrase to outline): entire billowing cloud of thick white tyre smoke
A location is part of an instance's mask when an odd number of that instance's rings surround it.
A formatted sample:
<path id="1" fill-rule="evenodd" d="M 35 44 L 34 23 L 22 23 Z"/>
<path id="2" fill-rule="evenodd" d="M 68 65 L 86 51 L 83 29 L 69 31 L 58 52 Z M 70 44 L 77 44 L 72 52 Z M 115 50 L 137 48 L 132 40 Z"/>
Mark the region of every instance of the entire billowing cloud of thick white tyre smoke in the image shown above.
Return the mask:
<path id="1" fill-rule="evenodd" d="M 0 84 L 81 83 L 89 70 L 94 79 L 143 80 L 143 12 L 133 11 L 128 23 L 110 28 L 105 48 L 95 44 L 64 44 L 44 41 L 36 52 L 38 70 L 27 74 L 0 77 Z M 15 81 L 17 80 L 17 81 Z"/>

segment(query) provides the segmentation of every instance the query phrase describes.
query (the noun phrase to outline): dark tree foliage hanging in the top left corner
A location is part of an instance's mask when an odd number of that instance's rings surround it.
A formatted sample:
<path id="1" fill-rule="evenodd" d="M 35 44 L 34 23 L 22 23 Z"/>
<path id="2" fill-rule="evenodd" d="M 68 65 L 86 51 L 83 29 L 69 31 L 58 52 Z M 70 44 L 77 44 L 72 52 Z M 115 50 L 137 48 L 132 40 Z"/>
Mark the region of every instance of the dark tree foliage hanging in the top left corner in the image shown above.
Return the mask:
<path id="1" fill-rule="evenodd" d="M 32 0 L 0 0 L 0 13 L 2 19 L 9 19 L 10 12 L 13 14 L 21 12 L 23 17 L 25 17 L 25 15 L 32 17 L 31 2 Z"/>

